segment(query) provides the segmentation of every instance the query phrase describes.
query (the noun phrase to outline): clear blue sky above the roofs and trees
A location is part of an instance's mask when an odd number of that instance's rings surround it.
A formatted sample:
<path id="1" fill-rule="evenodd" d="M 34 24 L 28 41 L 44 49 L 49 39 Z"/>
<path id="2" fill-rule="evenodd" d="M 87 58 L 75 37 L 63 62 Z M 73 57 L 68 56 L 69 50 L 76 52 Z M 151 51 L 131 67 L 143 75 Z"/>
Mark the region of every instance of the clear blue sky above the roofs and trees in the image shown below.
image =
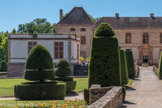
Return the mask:
<path id="1" fill-rule="evenodd" d="M 68 13 L 73 7 L 83 7 L 94 18 L 114 16 L 162 16 L 162 0 L 0 0 L 0 31 L 17 30 L 36 18 L 58 23 L 59 10 Z"/>

